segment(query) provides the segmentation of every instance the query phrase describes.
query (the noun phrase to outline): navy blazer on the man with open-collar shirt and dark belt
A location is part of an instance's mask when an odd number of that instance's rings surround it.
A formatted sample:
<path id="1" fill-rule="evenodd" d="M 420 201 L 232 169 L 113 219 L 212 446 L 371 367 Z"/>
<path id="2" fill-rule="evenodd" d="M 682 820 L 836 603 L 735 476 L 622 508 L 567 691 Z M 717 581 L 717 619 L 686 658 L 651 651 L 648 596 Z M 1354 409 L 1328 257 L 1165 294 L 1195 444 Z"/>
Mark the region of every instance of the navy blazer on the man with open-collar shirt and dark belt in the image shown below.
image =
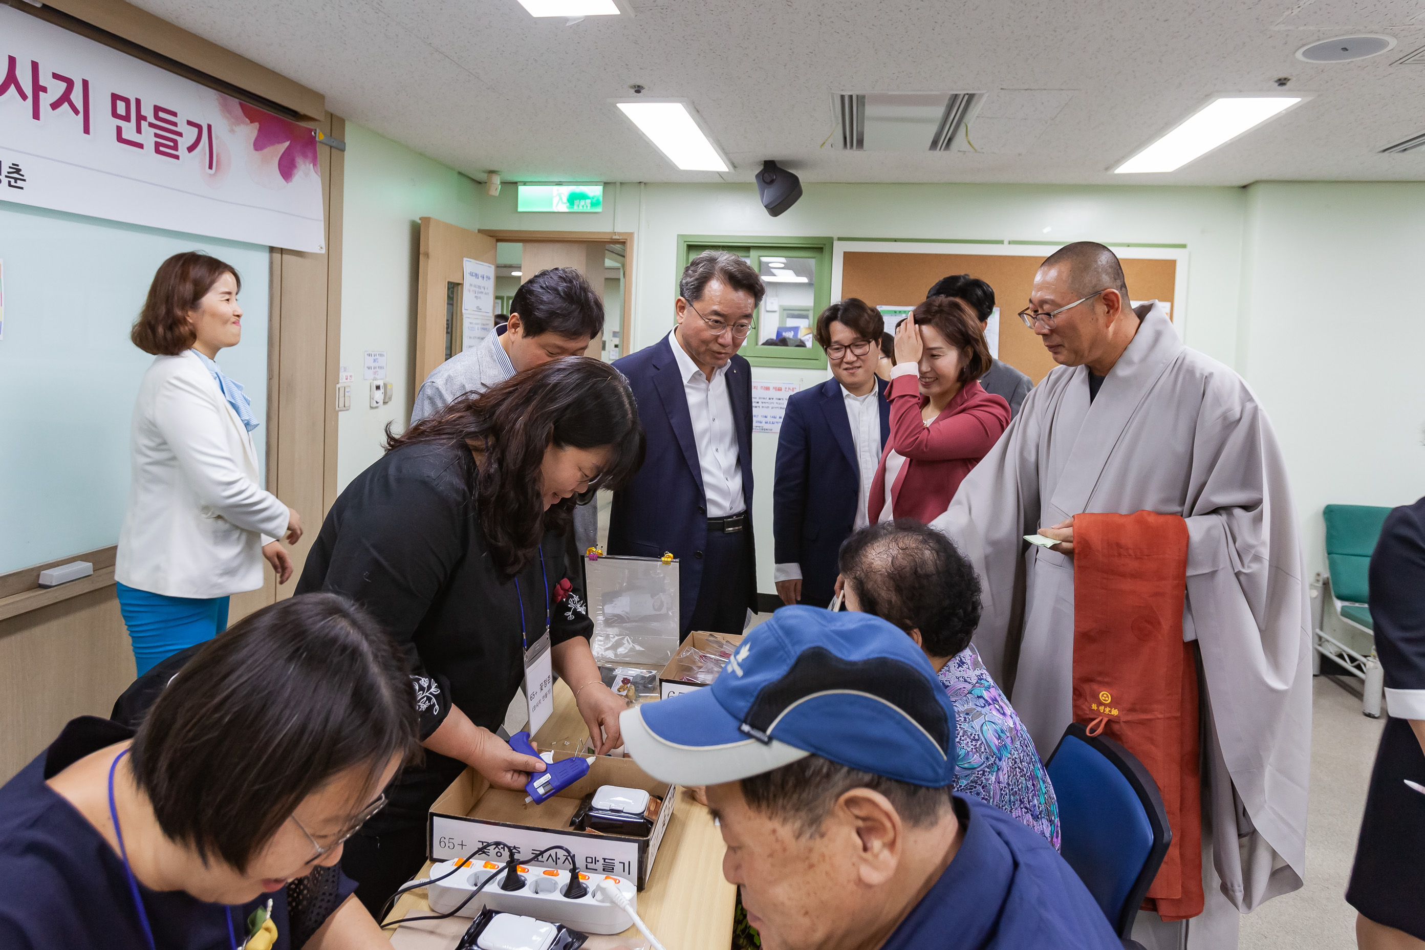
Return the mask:
<path id="1" fill-rule="evenodd" d="M 614 493 L 608 516 L 608 553 L 678 558 L 680 634 L 688 632 L 693 607 L 703 584 L 703 547 L 707 544 L 707 494 L 703 466 L 693 440 L 688 397 L 673 355 L 673 335 L 653 346 L 614 360 L 614 369 L 628 377 L 638 403 L 638 419 L 648 449 L 633 483 Z M 747 501 L 747 607 L 757 610 L 757 563 L 752 540 L 752 367 L 732 356 L 727 367 L 727 393 L 732 403 L 737 451 L 742 469 L 742 499 Z"/>

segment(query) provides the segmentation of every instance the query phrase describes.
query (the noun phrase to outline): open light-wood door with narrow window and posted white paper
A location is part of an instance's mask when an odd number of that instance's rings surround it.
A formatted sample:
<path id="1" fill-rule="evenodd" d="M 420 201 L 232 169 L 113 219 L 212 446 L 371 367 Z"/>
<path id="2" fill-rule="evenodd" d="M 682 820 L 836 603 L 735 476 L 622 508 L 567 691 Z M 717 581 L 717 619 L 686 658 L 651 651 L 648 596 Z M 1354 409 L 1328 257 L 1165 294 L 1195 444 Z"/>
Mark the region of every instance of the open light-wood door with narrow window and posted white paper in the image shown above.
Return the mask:
<path id="1" fill-rule="evenodd" d="M 466 258 L 493 266 L 494 238 L 436 218 L 420 219 L 416 372 L 412 376 L 412 399 L 430 370 L 463 349 L 460 295 L 465 289 Z"/>

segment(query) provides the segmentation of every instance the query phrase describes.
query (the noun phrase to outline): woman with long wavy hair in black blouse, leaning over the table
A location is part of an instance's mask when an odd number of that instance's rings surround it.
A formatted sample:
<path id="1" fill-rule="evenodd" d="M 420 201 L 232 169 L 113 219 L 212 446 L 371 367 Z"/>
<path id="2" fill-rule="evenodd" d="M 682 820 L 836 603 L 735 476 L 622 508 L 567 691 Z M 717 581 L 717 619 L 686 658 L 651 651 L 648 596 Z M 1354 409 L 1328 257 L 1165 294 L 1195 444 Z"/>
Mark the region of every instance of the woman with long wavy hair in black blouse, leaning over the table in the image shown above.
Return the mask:
<path id="1" fill-rule="evenodd" d="M 621 745 L 627 702 L 603 685 L 593 622 L 567 594 L 564 534 L 576 501 L 633 477 L 644 436 L 623 376 L 570 356 L 456 400 L 386 449 L 332 506 L 296 585 L 375 614 L 415 679 L 426 761 L 402 772 L 342 862 L 373 913 L 420 869 L 426 812 L 466 765 L 509 789 L 544 769 L 494 731 L 546 624 L 597 751 Z"/>

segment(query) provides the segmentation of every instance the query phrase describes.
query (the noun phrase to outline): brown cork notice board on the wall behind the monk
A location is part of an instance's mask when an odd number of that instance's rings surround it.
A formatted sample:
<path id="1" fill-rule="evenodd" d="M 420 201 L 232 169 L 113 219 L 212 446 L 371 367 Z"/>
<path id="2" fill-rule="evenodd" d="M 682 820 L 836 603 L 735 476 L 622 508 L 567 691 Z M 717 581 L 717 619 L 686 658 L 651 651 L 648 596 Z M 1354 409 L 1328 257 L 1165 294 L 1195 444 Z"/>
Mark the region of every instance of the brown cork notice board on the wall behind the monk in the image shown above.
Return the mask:
<path id="1" fill-rule="evenodd" d="M 1045 256 L 1052 251 L 1046 248 Z M 846 251 L 842 261 L 841 296 L 861 298 L 871 306 L 915 306 L 925 292 L 948 273 L 969 273 L 995 288 L 999 305 L 999 359 L 1037 385 L 1053 357 L 1016 313 L 1029 305 L 1042 256 L 1000 254 L 902 254 Z M 1173 301 L 1177 261 L 1120 258 L 1129 295 L 1134 301 Z M 1176 313 L 1173 313 L 1176 316 Z M 891 330 L 888 326 L 886 330 Z"/>

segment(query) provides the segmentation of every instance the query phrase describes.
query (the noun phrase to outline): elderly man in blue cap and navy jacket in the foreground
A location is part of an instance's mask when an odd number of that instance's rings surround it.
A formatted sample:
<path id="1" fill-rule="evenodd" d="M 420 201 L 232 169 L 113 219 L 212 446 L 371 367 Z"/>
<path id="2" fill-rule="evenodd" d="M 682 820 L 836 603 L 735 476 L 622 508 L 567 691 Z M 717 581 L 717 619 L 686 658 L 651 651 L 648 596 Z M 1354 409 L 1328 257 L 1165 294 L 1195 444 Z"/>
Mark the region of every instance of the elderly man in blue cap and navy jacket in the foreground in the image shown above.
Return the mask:
<path id="1" fill-rule="evenodd" d="M 1119 950 L 1059 853 L 950 792 L 955 709 L 869 614 L 785 607 L 708 689 L 621 716 L 663 782 L 707 785 L 767 950 Z"/>

